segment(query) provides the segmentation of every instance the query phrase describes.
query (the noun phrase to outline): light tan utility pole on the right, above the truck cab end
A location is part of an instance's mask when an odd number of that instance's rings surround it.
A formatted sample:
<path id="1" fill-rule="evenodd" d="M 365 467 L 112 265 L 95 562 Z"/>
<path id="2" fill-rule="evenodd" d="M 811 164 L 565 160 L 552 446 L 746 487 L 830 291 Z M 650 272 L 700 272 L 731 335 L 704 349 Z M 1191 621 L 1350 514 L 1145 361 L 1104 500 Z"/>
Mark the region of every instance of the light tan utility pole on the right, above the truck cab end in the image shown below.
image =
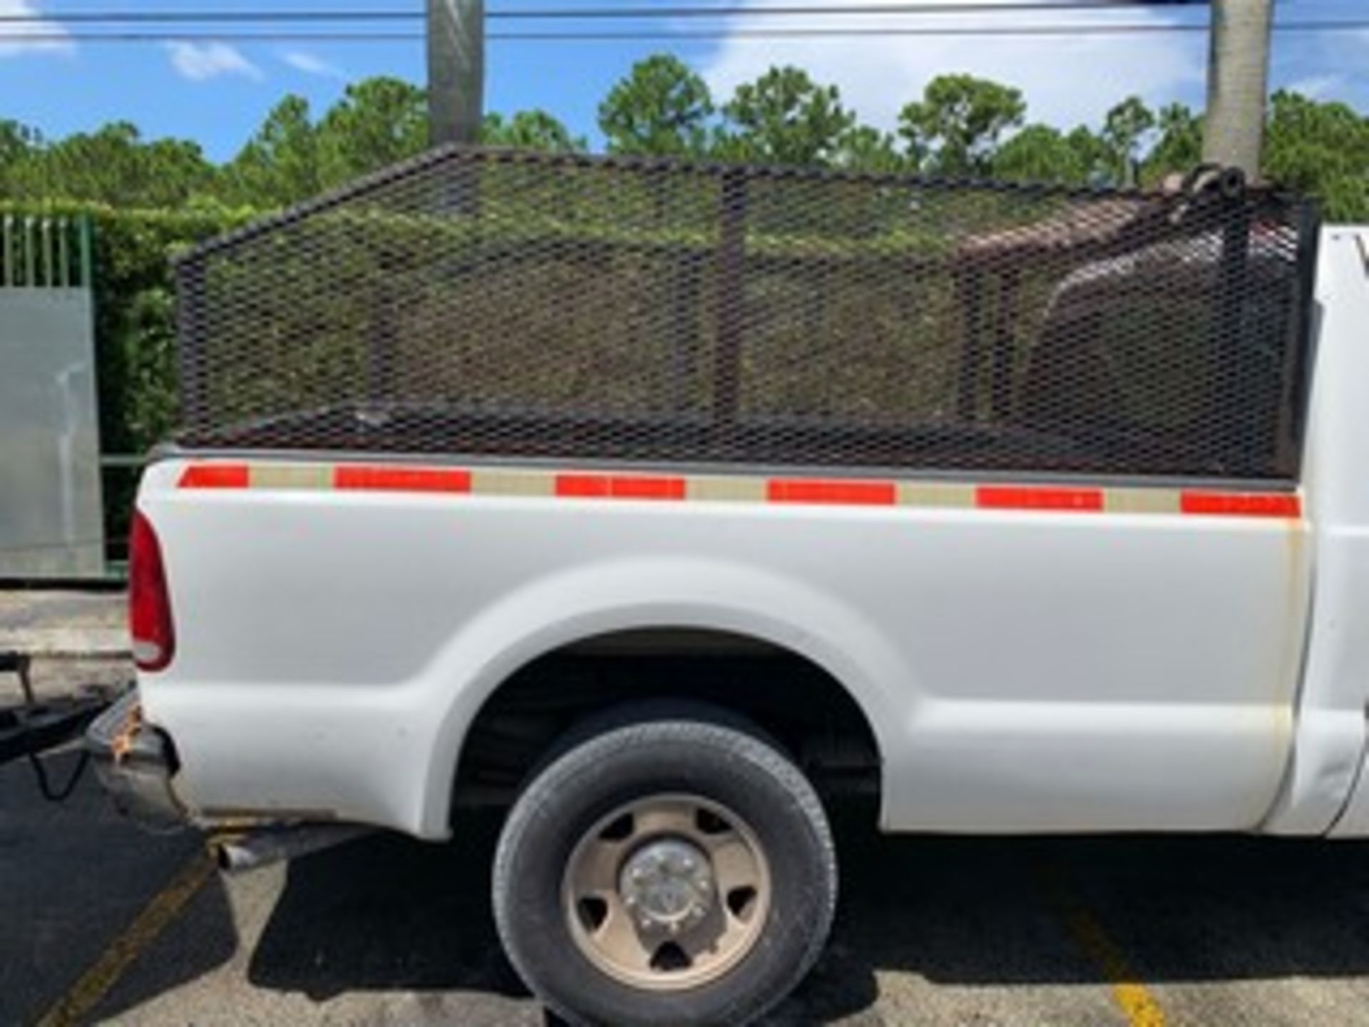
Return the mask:
<path id="1" fill-rule="evenodd" d="M 1212 0 L 1202 157 L 1259 178 L 1275 0 Z"/>

